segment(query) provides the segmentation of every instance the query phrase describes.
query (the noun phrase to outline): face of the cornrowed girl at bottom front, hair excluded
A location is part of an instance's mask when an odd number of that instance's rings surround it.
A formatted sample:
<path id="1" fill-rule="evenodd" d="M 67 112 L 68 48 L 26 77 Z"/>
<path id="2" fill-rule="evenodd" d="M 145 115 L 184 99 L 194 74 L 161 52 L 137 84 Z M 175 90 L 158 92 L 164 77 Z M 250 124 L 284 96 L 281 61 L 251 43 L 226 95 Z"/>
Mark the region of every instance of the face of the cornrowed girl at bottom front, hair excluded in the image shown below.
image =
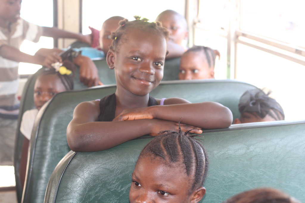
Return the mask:
<path id="1" fill-rule="evenodd" d="M 132 173 L 129 201 L 133 202 L 193 202 L 185 169 L 169 167 L 161 158 L 141 157 Z M 199 200 L 200 201 L 200 200 Z"/>

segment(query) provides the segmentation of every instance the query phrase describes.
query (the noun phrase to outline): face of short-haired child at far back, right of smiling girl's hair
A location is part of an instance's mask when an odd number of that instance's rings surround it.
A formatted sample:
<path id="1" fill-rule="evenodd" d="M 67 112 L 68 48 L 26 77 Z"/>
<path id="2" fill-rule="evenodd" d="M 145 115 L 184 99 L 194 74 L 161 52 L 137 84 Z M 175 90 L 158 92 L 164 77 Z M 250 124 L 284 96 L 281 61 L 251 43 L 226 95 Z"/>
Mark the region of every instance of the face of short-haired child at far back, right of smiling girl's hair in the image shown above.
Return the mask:
<path id="1" fill-rule="evenodd" d="M 162 26 L 169 31 L 169 40 L 181 45 L 183 40 L 188 37 L 185 19 L 174 13 L 163 13 L 156 19 L 162 23 Z"/>

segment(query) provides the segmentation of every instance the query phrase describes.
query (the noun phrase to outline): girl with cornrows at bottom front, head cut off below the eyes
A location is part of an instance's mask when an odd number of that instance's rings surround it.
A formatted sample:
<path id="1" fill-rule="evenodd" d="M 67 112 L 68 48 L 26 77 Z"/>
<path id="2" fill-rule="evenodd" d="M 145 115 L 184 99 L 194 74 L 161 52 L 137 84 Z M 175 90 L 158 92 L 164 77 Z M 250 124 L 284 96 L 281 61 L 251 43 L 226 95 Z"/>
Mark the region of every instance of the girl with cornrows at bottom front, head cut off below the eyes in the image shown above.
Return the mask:
<path id="1" fill-rule="evenodd" d="M 180 129 L 179 129 L 180 130 Z M 208 158 L 199 140 L 182 131 L 168 131 L 142 150 L 129 191 L 133 202 L 199 202 Z"/>

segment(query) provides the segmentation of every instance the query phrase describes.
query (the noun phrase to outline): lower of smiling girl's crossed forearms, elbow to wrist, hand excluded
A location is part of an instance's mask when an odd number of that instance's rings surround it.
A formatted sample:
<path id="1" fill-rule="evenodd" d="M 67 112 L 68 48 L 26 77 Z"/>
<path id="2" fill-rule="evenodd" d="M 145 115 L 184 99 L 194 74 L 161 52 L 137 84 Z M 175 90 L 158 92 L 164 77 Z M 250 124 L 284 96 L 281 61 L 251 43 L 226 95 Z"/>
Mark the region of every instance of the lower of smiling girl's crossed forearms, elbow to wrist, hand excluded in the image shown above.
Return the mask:
<path id="1" fill-rule="evenodd" d="M 74 124 L 67 128 L 67 141 L 70 149 L 81 152 L 94 152 L 112 148 L 152 131 L 152 120 L 89 122 Z"/>

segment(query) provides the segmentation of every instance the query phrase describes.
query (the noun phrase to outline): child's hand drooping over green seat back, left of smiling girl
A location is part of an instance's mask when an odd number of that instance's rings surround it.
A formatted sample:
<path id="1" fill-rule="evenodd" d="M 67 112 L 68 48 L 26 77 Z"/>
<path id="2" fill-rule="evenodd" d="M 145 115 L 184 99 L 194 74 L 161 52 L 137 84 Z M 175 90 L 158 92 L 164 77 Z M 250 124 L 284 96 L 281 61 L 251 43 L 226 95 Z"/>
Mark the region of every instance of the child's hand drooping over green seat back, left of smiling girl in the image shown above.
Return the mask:
<path id="1" fill-rule="evenodd" d="M 78 55 L 73 59 L 73 63 L 79 66 L 80 80 L 88 87 L 103 85 L 99 80 L 98 70 L 93 61 L 83 55 Z"/>

